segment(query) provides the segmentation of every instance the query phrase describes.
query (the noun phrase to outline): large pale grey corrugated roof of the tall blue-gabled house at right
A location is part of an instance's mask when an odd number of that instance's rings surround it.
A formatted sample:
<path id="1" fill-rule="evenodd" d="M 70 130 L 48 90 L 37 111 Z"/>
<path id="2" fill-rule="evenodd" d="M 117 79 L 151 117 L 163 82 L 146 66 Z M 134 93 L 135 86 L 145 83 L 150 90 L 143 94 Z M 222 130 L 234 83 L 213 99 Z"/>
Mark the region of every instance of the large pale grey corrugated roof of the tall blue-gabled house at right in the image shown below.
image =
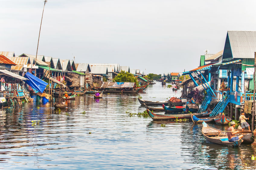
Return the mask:
<path id="1" fill-rule="evenodd" d="M 254 58 L 256 51 L 255 31 L 228 31 L 227 34 L 233 58 Z"/>

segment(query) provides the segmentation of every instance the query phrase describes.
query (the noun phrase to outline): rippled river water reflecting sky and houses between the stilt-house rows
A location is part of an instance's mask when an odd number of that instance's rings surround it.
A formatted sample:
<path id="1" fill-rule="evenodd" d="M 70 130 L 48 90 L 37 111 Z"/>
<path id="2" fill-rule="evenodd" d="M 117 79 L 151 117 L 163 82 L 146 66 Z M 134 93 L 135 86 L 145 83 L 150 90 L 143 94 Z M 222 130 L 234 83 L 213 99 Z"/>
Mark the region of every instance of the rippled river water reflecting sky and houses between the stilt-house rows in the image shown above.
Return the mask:
<path id="1" fill-rule="evenodd" d="M 168 84 L 167 84 L 168 85 Z M 202 125 L 128 116 L 137 99 L 167 100 L 180 91 L 149 85 L 140 94 L 78 96 L 60 113 L 52 104 L 1 110 L 0 167 L 5 169 L 255 169 L 256 148 L 206 143 Z M 155 98 L 153 98 L 155 97 Z M 57 101 L 57 99 L 56 99 Z M 57 101 L 58 102 L 58 101 Z M 85 114 L 81 112 L 85 111 Z M 70 115 L 70 116 L 69 116 Z M 32 120 L 40 120 L 36 127 Z M 161 127 L 166 124 L 166 127 Z M 218 127 L 217 125 L 213 125 Z M 91 134 L 89 134 L 91 132 Z M 247 165 L 246 165 L 247 164 Z"/>

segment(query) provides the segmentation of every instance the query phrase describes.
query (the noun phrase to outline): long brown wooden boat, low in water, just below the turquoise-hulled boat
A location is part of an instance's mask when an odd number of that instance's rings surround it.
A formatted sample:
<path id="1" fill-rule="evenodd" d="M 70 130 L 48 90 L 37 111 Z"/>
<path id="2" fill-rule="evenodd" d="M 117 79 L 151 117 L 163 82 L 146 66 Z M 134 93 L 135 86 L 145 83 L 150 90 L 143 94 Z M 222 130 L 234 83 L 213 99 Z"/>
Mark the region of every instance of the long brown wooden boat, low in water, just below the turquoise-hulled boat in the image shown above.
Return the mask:
<path id="1" fill-rule="evenodd" d="M 149 109 L 147 109 L 147 113 L 153 120 L 175 120 L 177 119 L 191 119 L 190 114 L 177 114 L 177 115 L 164 115 L 164 114 L 157 114 L 152 113 Z M 203 113 L 195 113 L 198 117 L 204 117 Z"/>

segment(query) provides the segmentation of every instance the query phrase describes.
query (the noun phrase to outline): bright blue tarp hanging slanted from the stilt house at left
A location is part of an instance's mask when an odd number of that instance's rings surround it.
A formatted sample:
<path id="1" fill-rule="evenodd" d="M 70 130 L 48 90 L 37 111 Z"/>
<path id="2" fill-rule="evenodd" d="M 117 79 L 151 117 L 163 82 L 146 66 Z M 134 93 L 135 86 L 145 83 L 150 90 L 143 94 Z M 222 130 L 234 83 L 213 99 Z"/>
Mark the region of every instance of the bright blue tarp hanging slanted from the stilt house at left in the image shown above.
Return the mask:
<path id="1" fill-rule="evenodd" d="M 48 83 L 44 82 L 43 80 L 39 79 L 38 77 L 34 76 L 33 74 L 27 72 L 24 75 L 25 78 L 27 78 L 28 80 L 25 80 L 25 82 L 30 85 L 32 88 L 40 91 L 41 93 L 43 93 L 44 89 L 46 88 L 46 85 L 48 85 Z"/>

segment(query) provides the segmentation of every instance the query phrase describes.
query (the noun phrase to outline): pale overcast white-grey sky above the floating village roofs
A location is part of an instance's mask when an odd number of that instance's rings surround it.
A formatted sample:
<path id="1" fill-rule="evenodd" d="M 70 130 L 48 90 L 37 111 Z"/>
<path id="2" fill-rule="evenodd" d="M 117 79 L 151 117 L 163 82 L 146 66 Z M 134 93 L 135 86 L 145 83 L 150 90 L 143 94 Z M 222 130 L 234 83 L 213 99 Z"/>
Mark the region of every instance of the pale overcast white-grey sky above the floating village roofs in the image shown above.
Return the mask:
<path id="1" fill-rule="evenodd" d="M 36 55 L 44 0 L 0 0 L 0 51 Z M 38 54 L 183 72 L 224 48 L 228 30 L 256 31 L 255 0 L 48 0 Z"/>

